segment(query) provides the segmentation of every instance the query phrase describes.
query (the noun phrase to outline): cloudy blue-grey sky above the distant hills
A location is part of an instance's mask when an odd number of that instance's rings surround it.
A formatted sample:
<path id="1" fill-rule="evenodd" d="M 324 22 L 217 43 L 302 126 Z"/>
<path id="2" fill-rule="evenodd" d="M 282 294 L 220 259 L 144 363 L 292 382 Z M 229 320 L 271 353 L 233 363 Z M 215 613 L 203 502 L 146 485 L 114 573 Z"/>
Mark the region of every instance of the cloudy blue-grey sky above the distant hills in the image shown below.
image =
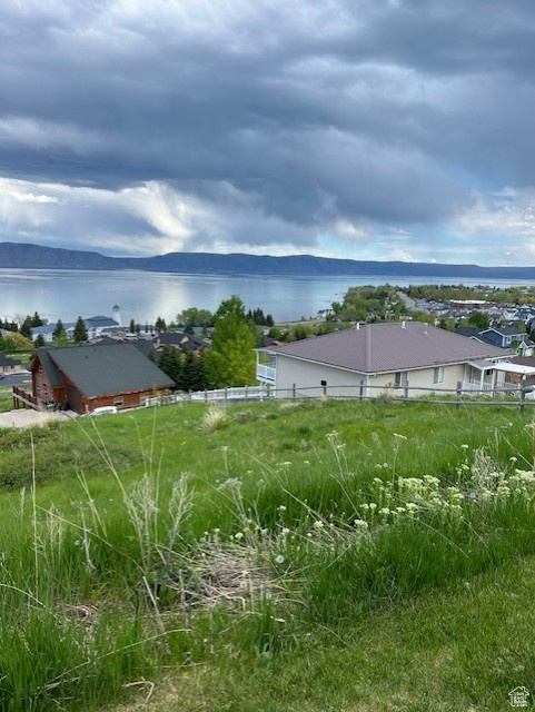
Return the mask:
<path id="1" fill-rule="evenodd" d="M 0 241 L 535 265 L 533 0 L 2 0 Z"/>

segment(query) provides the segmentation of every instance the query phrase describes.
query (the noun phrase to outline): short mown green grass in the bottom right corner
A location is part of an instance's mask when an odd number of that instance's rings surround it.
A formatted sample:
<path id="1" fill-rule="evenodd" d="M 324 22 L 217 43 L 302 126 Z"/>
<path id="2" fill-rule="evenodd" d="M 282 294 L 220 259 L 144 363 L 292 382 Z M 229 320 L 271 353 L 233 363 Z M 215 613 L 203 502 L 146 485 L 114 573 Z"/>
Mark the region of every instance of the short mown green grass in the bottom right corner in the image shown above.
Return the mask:
<path id="1" fill-rule="evenodd" d="M 271 659 L 219 655 L 177 671 L 151 709 L 505 711 L 511 690 L 535 690 L 534 595 L 535 560 L 509 562 L 351 621 L 341 637 L 317 629 Z"/>

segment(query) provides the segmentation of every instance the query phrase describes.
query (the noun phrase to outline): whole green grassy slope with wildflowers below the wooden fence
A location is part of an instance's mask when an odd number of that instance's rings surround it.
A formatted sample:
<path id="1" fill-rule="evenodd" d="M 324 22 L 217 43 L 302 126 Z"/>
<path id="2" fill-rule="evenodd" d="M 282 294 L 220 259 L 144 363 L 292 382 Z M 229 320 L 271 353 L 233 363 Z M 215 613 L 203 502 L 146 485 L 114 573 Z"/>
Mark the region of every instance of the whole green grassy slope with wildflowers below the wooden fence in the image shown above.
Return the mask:
<path id="1" fill-rule="evenodd" d="M 535 695 L 529 413 L 191 404 L 0 454 L 2 710 Z"/>

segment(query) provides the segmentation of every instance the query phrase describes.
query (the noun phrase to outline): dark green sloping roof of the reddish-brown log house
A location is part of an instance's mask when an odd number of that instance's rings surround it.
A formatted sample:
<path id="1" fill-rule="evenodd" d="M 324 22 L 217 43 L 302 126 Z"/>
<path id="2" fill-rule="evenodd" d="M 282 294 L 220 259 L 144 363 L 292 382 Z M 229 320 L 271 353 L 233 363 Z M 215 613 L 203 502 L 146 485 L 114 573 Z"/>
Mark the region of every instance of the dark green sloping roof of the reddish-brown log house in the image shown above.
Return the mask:
<path id="1" fill-rule="evenodd" d="M 60 373 L 65 374 L 88 398 L 175 386 L 131 344 L 40 349 L 39 357 L 49 376 L 50 366 L 56 370 L 50 378 L 52 384 L 57 384 Z"/>

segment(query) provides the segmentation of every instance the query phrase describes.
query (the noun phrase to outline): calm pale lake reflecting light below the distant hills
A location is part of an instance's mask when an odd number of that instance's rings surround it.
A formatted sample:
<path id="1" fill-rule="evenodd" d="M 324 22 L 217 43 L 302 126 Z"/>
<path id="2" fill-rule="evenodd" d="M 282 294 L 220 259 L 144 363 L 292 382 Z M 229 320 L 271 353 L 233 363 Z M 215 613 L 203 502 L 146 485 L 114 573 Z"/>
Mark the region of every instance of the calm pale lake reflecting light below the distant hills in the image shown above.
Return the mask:
<path id="1" fill-rule="evenodd" d="M 136 319 L 167 322 L 188 307 L 215 312 L 231 295 L 239 295 L 246 308 L 260 307 L 276 322 L 316 316 L 338 300 L 349 287 L 385 283 L 437 284 L 433 277 L 397 278 L 364 276 L 283 275 L 178 275 L 137 270 L 92 271 L 62 269 L 0 269 L 0 316 L 39 314 L 49 322 L 73 322 L 102 314 L 111 316 L 113 305 L 121 308 L 122 324 Z M 482 284 L 482 279 L 448 278 L 445 284 Z M 525 284 L 494 280 L 494 286 Z"/>

